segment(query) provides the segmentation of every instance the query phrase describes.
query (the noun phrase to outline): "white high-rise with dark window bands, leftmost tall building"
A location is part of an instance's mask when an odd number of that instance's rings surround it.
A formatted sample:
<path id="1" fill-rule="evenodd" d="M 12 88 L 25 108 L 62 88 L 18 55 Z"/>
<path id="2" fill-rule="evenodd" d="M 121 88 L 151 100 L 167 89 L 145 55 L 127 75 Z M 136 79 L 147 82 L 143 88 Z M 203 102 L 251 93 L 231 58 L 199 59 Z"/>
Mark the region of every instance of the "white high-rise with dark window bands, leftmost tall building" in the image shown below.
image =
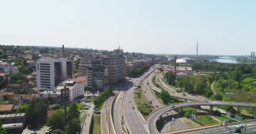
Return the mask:
<path id="1" fill-rule="evenodd" d="M 54 90 L 57 85 L 67 79 L 72 79 L 72 61 L 66 58 L 38 59 L 37 63 L 37 89 Z"/>

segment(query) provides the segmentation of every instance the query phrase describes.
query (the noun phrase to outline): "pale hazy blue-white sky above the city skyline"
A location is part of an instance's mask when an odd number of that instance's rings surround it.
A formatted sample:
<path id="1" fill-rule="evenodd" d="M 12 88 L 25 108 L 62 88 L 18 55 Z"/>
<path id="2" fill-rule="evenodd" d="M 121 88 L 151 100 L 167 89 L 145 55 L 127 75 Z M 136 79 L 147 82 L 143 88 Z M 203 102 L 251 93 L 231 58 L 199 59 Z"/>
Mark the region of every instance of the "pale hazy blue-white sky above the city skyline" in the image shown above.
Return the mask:
<path id="1" fill-rule="evenodd" d="M 256 51 L 256 0 L 0 0 L 0 44 L 154 54 Z"/>

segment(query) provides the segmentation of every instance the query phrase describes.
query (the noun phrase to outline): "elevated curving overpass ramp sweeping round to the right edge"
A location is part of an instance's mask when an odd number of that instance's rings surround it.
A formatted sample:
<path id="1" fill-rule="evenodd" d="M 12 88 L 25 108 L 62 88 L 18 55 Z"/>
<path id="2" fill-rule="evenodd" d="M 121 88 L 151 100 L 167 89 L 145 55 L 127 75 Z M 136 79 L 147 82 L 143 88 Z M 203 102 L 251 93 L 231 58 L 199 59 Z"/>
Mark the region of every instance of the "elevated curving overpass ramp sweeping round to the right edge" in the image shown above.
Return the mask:
<path id="1" fill-rule="evenodd" d="M 175 106 L 175 107 L 173 107 Z M 195 101 L 186 103 L 176 103 L 174 105 L 168 105 L 163 108 L 159 108 L 153 111 L 147 117 L 147 124 L 150 134 L 159 134 L 156 128 L 157 119 L 164 113 L 172 111 L 176 108 L 192 107 L 192 106 L 235 106 L 235 107 L 256 107 L 256 103 L 238 103 L 238 102 L 224 102 L 224 101 Z"/>

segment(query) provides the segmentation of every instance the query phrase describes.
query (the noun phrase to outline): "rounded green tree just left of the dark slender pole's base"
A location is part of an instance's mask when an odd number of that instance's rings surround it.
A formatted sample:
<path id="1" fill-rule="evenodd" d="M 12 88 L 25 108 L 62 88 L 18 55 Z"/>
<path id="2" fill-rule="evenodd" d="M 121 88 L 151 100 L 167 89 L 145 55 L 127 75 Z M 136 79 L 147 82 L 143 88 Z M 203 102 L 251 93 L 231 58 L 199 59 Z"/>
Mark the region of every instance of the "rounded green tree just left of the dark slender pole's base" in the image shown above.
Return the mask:
<path id="1" fill-rule="evenodd" d="M 52 126 L 53 129 L 63 129 L 64 124 L 64 114 L 61 110 L 54 112 L 47 121 L 47 126 Z"/>

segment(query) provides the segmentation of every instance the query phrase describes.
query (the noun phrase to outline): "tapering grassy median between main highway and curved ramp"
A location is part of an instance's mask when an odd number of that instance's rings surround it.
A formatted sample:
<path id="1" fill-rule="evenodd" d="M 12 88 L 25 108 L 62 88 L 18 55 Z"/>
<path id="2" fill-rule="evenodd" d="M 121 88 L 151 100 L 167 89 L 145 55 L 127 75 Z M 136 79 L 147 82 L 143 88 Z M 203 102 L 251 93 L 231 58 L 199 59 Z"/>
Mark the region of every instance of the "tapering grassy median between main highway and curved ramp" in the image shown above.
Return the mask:
<path id="1" fill-rule="evenodd" d="M 149 113 L 155 110 L 154 107 L 149 106 L 149 101 L 145 97 L 143 90 L 141 88 L 135 90 L 134 101 L 144 118 L 146 118 L 147 115 L 149 115 Z"/>

